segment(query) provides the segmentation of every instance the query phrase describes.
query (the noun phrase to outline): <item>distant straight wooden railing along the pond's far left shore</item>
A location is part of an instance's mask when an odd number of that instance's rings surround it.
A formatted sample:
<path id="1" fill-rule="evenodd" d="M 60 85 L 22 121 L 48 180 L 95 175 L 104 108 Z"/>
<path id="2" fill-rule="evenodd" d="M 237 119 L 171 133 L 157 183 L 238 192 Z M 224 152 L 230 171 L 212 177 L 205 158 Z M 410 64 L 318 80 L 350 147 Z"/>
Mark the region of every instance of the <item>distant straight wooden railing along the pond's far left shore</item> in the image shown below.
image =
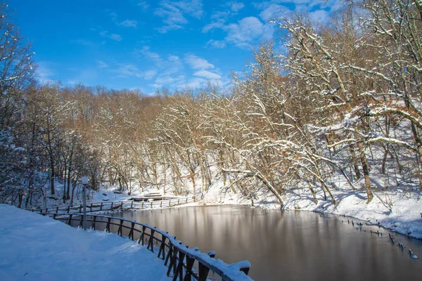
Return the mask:
<path id="1" fill-rule="evenodd" d="M 134 201 L 111 201 L 111 202 L 94 202 L 87 204 L 87 212 L 93 211 L 127 211 L 130 209 L 153 209 L 153 208 L 165 208 L 173 207 L 181 204 L 188 204 L 191 202 L 197 202 L 203 199 L 203 193 L 198 193 L 193 196 L 175 198 L 171 200 L 160 200 L 153 202 L 134 202 Z M 80 213 L 82 212 L 82 204 L 70 204 L 60 205 L 49 208 L 37 208 L 27 209 L 29 211 L 37 211 L 41 214 L 47 214 L 51 212 L 56 213 Z"/>

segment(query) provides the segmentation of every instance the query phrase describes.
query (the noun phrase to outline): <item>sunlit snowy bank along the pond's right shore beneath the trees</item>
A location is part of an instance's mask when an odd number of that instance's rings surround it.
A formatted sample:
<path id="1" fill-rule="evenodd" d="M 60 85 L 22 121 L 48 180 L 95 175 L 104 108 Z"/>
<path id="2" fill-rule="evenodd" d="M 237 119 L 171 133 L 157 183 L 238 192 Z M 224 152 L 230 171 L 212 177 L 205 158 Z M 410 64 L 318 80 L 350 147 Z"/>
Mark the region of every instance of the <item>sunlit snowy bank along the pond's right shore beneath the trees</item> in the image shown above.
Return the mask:
<path id="1" fill-rule="evenodd" d="M 339 190 L 332 189 L 331 192 L 338 204 L 333 204 L 327 195 L 324 200 L 324 193 L 316 192 L 317 204 L 314 202 L 309 189 L 298 188 L 289 190 L 284 194 L 283 209 L 315 211 L 319 213 L 350 216 L 368 224 L 379 225 L 397 233 L 409 235 L 410 237 L 422 239 L 422 195 L 419 191 L 405 192 L 374 191 L 373 200 L 366 204 L 366 192 L 362 190 Z M 204 204 L 251 204 L 251 200 L 242 197 L 240 192 L 234 194 L 231 190 L 222 188 L 219 185 L 212 185 L 205 193 Z M 276 197 L 269 192 L 257 192 L 254 205 L 264 209 L 279 209 L 280 204 Z"/>

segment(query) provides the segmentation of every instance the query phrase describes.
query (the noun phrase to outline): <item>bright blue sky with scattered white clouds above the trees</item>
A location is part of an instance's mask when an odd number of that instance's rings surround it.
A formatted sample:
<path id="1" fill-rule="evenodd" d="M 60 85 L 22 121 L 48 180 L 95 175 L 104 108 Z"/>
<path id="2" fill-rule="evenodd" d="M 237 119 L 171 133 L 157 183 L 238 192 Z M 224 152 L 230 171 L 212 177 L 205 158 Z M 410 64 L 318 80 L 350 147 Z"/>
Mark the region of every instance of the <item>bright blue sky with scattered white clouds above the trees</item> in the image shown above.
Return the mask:
<path id="1" fill-rule="evenodd" d="M 272 39 L 273 17 L 309 12 L 326 20 L 338 0 L 8 0 L 32 41 L 42 82 L 82 83 L 151 94 L 230 82 Z"/>

